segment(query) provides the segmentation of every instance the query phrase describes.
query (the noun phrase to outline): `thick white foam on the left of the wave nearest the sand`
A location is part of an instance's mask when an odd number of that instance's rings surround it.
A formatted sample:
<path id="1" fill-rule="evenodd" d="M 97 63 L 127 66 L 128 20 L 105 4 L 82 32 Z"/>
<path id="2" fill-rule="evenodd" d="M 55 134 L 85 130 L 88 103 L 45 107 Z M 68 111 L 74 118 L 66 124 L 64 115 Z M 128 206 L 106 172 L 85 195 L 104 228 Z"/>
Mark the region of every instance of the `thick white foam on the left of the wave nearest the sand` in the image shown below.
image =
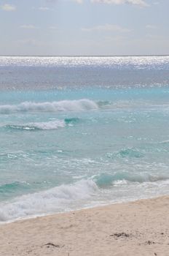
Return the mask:
<path id="1" fill-rule="evenodd" d="M 65 211 L 79 200 L 90 199 L 98 187 L 92 180 L 61 185 L 44 192 L 17 197 L 15 202 L 0 205 L 0 222 L 34 215 Z"/>

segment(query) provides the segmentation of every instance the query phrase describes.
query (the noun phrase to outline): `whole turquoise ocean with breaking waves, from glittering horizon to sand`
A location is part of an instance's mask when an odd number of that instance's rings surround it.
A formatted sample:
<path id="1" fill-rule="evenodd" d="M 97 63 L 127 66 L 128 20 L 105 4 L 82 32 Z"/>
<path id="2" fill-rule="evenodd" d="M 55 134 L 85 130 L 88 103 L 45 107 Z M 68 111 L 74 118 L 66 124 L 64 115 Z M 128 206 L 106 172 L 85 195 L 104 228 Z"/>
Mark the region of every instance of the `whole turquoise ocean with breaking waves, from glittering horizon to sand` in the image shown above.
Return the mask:
<path id="1" fill-rule="evenodd" d="M 0 57 L 0 222 L 169 193 L 169 56 Z"/>

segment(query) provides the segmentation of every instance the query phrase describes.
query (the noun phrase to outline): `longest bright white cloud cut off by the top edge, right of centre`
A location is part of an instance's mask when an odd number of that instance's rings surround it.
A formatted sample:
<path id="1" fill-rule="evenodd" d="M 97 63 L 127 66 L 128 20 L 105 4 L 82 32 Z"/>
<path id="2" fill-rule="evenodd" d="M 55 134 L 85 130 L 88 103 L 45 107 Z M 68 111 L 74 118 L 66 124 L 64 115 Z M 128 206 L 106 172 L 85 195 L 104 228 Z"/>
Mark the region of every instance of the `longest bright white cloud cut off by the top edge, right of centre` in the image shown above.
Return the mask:
<path id="1" fill-rule="evenodd" d="M 92 3 L 101 3 L 101 4 L 133 4 L 140 7 L 148 7 L 149 4 L 144 0 L 90 0 Z"/>

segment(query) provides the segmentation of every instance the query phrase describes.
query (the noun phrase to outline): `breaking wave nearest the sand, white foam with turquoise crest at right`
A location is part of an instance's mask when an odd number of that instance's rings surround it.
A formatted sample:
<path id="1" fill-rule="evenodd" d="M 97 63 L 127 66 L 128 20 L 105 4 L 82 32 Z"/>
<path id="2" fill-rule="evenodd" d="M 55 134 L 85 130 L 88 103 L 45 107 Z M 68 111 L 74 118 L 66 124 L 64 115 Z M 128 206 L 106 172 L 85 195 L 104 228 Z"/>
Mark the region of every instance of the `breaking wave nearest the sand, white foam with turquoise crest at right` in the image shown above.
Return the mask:
<path id="1" fill-rule="evenodd" d="M 87 205 L 91 199 L 103 192 L 106 187 L 125 186 L 128 183 L 166 181 L 169 177 L 153 176 L 148 173 L 101 173 L 89 179 L 82 179 L 74 184 L 62 184 L 34 194 L 15 197 L 10 203 L 0 204 L 0 222 L 23 219 L 55 212 L 71 211 Z M 14 187 L 16 184 L 14 184 Z M 12 184 L 13 187 L 13 184 Z M 11 191 L 11 188 L 2 189 Z M 12 188 L 13 189 L 13 188 Z"/>

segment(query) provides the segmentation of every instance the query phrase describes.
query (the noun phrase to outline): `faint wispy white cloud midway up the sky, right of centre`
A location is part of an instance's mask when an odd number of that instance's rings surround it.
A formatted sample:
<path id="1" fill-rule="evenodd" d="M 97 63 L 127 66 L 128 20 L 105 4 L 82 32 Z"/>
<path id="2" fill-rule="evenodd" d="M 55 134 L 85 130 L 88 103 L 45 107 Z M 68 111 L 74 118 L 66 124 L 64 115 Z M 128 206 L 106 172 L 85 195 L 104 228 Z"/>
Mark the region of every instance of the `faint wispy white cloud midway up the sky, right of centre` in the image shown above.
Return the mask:
<path id="1" fill-rule="evenodd" d="M 130 29 L 125 29 L 122 28 L 121 26 L 118 25 L 113 25 L 113 24 L 105 24 L 105 25 L 100 25 L 100 26 L 93 26 L 91 28 L 82 28 L 82 31 L 117 31 L 117 32 L 130 32 Z"/>

